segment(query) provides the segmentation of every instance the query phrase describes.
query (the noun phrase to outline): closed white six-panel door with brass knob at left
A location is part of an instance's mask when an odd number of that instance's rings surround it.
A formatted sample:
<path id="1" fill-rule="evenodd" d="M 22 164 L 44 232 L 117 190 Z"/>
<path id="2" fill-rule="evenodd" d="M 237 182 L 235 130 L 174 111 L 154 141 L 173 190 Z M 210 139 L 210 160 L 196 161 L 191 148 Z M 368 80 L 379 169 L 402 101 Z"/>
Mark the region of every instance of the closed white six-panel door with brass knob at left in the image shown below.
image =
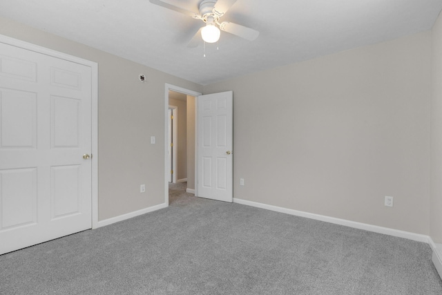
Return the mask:
<path id="1" fill-rule="evenodd" d="M 91 79 L 0 43 L 0 254 L 90 229 Z"/>

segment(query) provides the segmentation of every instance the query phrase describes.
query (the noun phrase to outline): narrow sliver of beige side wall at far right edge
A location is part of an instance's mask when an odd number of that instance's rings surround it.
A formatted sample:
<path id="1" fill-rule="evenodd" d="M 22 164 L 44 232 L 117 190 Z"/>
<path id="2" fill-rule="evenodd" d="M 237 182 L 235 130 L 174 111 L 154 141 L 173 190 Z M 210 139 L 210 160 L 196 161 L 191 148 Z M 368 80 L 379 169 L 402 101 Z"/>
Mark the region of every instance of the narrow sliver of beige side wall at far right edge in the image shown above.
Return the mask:
<path id="1" fill-rule="evenodd" d="M 432 29 L 430 236 L 442 243 L 442 16 Z"/>

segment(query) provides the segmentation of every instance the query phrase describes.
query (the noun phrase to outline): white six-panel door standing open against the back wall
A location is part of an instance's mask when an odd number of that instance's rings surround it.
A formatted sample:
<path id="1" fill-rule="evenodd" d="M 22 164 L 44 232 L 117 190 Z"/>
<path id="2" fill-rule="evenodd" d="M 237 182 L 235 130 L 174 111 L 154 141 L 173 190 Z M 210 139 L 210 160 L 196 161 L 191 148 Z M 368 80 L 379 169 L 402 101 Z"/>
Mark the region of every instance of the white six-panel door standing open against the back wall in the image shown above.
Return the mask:
<path id="1" fill-rule="evenodd" d="M 198 196 L 233 201 L 233 93 L 198 97 Z"/>

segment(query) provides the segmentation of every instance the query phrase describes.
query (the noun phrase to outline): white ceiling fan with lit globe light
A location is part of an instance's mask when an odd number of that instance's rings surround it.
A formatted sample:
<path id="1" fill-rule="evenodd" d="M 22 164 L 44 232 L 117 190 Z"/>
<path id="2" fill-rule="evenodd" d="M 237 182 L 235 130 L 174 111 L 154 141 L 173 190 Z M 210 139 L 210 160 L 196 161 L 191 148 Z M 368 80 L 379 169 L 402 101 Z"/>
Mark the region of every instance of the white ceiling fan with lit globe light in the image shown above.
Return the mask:
<path id="1" fill-rule="evenodd" d="M 196 47 L 200 44 L 200 37 L 207 43 L 214 43 L 220 39 L 220 30 L 224 32 L 229 32 L 238 37 L 242 37 L 249 41 L 253 41 L 260 35 L 260 32 L 253 30 L 252 28 L 247 28 L 237 23 L 231 23 L 229 21 L 220 22 L 220 18 L 233 6 L 236 0 L 202 0 L 199 4 L 198 12 L 193 12 L 192 10 L 186 10 L 178 6 L 174 6 L 170 3 L 166 3 L 162 0 L 149 0 L 151 3 L 170 10 L 175 10 L 181 12 L 184 15 L 189 15 L 194 19 L 201 19 L 206 23 L 196 32 L 187 47 Z"/>

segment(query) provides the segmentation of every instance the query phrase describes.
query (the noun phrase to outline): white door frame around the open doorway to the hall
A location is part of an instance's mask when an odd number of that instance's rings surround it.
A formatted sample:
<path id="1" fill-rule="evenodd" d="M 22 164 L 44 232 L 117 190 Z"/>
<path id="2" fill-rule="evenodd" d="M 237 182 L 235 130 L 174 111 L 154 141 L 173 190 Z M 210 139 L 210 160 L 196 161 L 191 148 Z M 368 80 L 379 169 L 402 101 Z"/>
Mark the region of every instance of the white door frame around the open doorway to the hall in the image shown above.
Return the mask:
<path id="1" fill-rule="evenodd" d="M 169 206 L 169 182 L 167 181 L 167 136 L 169 133 L 168 124 L 169 124 L 169 118 L 168 118 L 168 110 L 169 110 L 169 91 L 175 91 L 179 93 L 183 93 L 185 95 L 191 95 L 195 97 L 195 117 L 196 117 L 196 104 L 198 102 L 198 96 L 202 95 L 202 93 L 193 91 L 190 89 L 182 88 L 180 86 L 175 86 L 169 83 L 164 84 L 164 203 L 166 206 Z M 198 130 L 198 122 L 195 118 L 195 131 Z M 198 143 L 198 136 L 195 134 L 195 142 Z M 195 165 L 198 165 L 196 155 L 198 155 L 198 146 L 195 146 Z M 198 168 L 198 166 L 195 166 Z M 195 169 L 195 181 L 198 180 L 196 178 L 198 176 L 198 169 Z M 198 196 L 198 191 L 196 190 L 196 184 L 195 184 L 195 196 Z"/>

